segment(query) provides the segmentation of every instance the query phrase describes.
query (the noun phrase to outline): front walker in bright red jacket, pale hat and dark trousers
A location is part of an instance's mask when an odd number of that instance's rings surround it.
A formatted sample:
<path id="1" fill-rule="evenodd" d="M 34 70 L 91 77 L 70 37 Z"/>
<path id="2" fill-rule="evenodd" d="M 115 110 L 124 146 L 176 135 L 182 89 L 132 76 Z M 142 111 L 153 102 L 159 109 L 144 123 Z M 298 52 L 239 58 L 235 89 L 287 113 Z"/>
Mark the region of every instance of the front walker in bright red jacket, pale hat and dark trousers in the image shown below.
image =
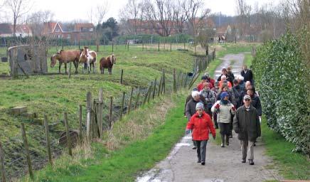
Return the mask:
<path id="1" fill-rule="evenodd" d="M 196 113 L 191 117 L 190 122 L 186 126 L 186 134 L 193 130 L 193 140 L 197 145 L 198 163 L 205 165 L 205 151 L 209 139 L 209 131 L 215 139 L 216 132 L 213 127 L 212 120 L 208 114 L 204 112 L 203 103 L 198 102 L 196 105 Z"/>

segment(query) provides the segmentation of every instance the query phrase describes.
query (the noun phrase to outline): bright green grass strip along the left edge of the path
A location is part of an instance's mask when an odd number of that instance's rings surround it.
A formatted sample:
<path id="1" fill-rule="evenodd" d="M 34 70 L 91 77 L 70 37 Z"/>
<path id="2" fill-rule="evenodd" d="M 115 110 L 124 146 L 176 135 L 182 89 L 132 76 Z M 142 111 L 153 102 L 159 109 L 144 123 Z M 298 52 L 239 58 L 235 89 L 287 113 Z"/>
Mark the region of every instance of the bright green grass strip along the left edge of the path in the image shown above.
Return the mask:
<path id="1" fill-rule="evenodd" d="M 100 142 L 92 144 L 93 159 L 81 159 L 72 164 L 65 156 L 35 174 L 35 181 L 134 181 L 141 171 L 152 168 L 156 162 L 164 159 L 173 144 L 184 134 L 186 119 L 183 117 L 184 94 L 171 97 L 176 107 L 171 107 L 166 119 L 156 127 L 146 139 L 128 144 L 123 149 L 109 152 Z M 166 97 L 165 99 L 168 99 Z M 143 107 L 148 112 L 153 107 Z M 132 115 L 132 114 L 129 114 Z M 134 114 L 135 117 L 147 117 Z M 129 122 L 130 119 L 124 119 Z M 58 164 L 60 163 L 60 164 Z M 28 181 L 28 178 L 24 178 Z"/>

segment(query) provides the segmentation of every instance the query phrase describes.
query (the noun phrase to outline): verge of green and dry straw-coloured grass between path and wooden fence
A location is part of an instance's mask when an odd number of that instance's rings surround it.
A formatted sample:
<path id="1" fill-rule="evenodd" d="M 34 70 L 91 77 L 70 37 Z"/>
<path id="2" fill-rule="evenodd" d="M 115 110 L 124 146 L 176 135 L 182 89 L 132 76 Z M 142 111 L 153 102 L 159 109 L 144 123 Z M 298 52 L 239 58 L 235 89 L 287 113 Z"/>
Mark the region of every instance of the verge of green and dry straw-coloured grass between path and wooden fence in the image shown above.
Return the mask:
<path id="1" fill-rule="evenodd" d="M 38 171 L 35 181 L 134 181 L 141 171 L 164 159 L 184 134 L 185 93 L 161 97 L 132 112 L 116 123 L 102 142 L 93 143 L 90 151 L 80 155 L 81 150 L 77 149 L 73 159 L 67 155 L 60 157 L 53 168 Z M 109 141 L 115 142 L 108 136 L 121 139 L 120 149 L 107 150 Z"/>

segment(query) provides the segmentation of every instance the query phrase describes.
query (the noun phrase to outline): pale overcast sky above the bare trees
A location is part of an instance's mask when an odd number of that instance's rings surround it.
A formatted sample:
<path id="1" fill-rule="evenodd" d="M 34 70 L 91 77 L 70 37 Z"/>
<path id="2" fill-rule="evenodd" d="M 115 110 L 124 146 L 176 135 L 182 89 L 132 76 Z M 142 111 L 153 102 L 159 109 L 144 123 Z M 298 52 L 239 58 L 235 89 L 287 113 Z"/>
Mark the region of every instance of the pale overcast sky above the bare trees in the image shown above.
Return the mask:
<path id="1" fill-rule="evenodd" d="M 1 1 L 1 0 L 0 0 Z M 86 20 L 90 21 L 89 11 L 97 4 L 102 4 L 104 0 L 32 0 L 33 8 L 31 11 L 50 10 L 55 16 L 56 21 Z M 169 1 L 169 0 L 168 0 Z M 277 3 L 279 0 L 245 0 L 252 6 L 255 3 L 262 5 L 270 2 Z M 127 0 L 109 0 L 109 11 L 105 19 L 114 17 L 118 19 L 119 9 L 127 4 Z M 235 0 L 205 0 L 205 7 L 211 9 L 211 13 L 222 12 L 226 15 L 236 14 Z M 3 19 L 4 17 L 2 17 Z M 3 20 L 2 20 L 3 21 Z M 93 22 L 94 23 L 94 22 Z"/>

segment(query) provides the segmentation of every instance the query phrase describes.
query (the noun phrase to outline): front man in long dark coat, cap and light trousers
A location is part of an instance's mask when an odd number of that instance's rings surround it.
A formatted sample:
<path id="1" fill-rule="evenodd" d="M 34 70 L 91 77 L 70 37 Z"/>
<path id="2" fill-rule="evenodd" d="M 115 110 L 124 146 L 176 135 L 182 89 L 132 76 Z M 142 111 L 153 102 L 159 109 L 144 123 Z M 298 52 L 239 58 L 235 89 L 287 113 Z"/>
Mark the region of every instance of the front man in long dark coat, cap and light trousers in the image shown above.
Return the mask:
<path id="1" fill-rule="evenodd" d="M 250 95 L 245 95 L 243 101 L 245 105 L 237 109 L 233 121 L 233 129 L 241 141 L 241 162 L 245 163 L 247 153 L 249 153 L 249 164 L 254 165 L 254 144 L 257 137 L 260 137 L 260 119 L 257 110 L 251 105 Z M 249 148 L 248 151 L 247 148 Z"/>

